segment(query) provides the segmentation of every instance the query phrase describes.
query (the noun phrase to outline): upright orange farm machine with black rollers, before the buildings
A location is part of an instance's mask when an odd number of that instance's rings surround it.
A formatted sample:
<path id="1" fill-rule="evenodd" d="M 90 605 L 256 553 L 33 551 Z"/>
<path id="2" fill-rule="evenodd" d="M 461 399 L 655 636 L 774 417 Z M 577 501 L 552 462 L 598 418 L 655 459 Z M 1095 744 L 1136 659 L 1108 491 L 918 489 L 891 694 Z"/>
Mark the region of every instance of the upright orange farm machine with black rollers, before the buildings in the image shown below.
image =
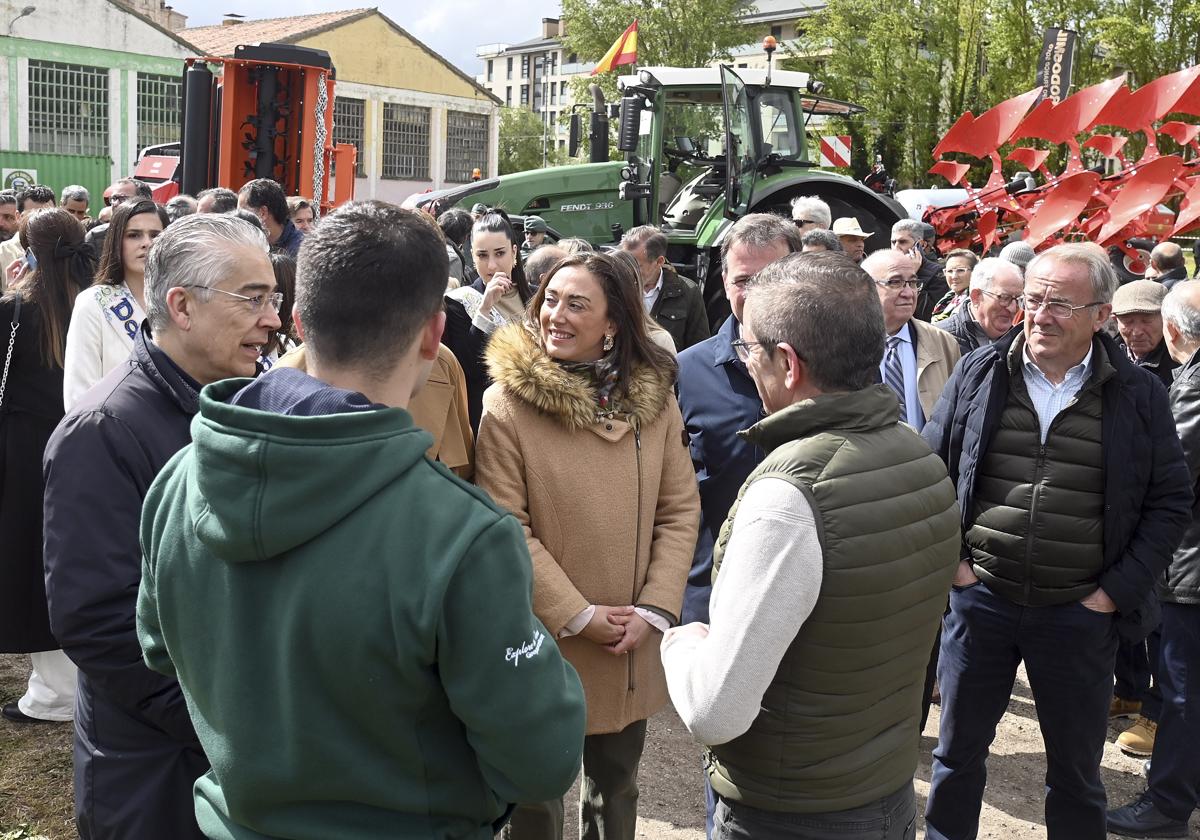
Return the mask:
<path id="1" fill-rule="evenodd" d="M 187 59 L 181 155 L 145 155 L 134 174 L 152 182 L 160 202 L 215 186 L 236 192 L 256 178 L 311 198 L 322 212 L 349 202 L 358 150 L 334 145 L 334 84 L 320 49 L 268 43 L 240 46 L 232 59 Z M 331 193 L 334 164 L 349 176 Z"/>

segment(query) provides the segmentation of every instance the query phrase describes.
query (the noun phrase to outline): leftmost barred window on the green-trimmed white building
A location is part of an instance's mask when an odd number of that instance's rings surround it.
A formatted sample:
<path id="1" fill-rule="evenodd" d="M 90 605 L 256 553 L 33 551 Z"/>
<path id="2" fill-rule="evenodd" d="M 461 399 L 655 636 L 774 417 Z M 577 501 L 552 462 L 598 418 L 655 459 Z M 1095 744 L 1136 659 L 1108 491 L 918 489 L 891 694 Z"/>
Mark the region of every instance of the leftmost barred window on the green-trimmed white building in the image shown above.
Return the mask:
<path id="1" fill-rule="evenodd" d="M 108 156 L 107 70 L 30 59 L 29 150 Z"/>

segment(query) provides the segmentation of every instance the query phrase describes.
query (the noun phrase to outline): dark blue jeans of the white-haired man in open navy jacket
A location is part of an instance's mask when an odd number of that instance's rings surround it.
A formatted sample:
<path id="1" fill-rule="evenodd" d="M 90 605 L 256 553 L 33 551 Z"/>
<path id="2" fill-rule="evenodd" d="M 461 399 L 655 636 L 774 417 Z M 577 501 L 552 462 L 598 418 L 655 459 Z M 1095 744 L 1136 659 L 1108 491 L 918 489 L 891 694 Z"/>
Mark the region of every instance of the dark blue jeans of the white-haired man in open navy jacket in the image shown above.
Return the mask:
<path id="1" fill-rule="evenodd" d="M 1022 607 L 982 582 L 952 589 L 937 668 L 942 726 L 925 836 L 970 840 L 978 834 L 988 749 L 1024 660 L 1046 749 L 1046 836 L 1104 840 L 1100 757 L 1116 649 L 1116 618 L 1078 601 Z M 1030 794 L 1036 790 L 1031 786 Z"/>

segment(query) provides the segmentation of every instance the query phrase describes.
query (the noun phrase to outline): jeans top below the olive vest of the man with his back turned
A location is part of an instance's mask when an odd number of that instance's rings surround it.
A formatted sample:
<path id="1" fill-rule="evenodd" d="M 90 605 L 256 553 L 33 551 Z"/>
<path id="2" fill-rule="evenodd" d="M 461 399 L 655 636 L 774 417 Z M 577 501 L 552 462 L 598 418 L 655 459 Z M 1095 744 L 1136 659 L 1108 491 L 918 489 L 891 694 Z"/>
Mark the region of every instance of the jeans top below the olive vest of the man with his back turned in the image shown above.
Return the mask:
<path id="1" fill-rule="evenodd" d="M 917 798 L 912 784 L 869 805 L 829 814 L 763 811 L 718 798 L 713 840 L 912 840 Z"/>

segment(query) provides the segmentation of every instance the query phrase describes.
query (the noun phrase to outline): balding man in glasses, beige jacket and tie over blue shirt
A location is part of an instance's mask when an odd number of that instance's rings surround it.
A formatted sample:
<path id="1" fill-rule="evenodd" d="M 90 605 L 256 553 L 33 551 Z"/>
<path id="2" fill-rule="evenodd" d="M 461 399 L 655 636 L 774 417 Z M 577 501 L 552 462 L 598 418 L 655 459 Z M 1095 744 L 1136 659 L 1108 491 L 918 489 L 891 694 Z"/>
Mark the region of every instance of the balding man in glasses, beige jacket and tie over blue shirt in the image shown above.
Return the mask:
<path id="1" fill-rule="evenodd" d="M 881 248 L 863 260 L 883 306 L 887 347 L 880 377 L 896 392 L 901 419 L 919 432 L 960 354 L 954 336 L 914 318 L 922 288 L 917 268 L 916 259 L 895 248 Z"/>

